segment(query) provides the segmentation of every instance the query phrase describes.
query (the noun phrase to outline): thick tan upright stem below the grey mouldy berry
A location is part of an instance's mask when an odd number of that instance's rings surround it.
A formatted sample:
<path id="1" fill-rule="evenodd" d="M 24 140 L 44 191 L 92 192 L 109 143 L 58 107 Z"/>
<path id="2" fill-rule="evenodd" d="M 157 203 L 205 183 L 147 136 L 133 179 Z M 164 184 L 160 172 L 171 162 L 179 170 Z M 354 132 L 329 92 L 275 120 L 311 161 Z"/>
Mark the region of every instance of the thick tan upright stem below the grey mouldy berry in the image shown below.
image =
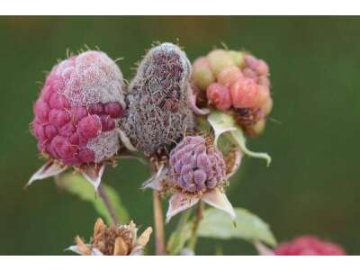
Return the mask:
<path id="1" fill-rule="evenodd" d="M 164 234 L 164 217 L 161 209 L 160 195 L 157 191 L 153 193 L 153 208 L 155 220 L 155 238 L 157 255 L 166 255 L 165 234 Z"/>

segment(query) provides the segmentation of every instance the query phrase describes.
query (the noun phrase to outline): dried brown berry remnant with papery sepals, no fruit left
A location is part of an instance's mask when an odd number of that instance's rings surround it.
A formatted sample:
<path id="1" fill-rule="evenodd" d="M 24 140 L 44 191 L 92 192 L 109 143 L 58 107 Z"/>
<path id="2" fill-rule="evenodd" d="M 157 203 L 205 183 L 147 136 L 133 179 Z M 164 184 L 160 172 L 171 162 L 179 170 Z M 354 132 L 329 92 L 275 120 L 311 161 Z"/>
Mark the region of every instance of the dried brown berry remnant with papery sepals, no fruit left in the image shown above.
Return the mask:
<path id="1" fill-rule="evenodd" d="M 127 256 L 142 255 L 144 247 L 152 233 L 151 227 L 137 237 L 136 225 L 130 221 L 129 225 L 107 227 L 102 219 L 98 219 L 94 225 L 94 235 L 90 244 L 76 237 L 76 246 L 68 247 L 68 250 L 80 255 L 106 255 Z"/>

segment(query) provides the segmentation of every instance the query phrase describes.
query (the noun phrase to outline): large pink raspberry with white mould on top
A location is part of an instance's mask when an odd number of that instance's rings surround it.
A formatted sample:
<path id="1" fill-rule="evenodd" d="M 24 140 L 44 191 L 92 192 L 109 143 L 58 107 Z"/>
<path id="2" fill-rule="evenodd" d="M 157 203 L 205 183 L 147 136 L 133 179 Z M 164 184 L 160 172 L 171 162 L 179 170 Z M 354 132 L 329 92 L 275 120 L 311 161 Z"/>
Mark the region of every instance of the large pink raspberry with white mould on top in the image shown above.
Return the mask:
<path id="1" fill-rule="evenodd" d="M 52 68 L 34 103 L 39 150 L 67 166 L 99 163 L 121 147 L 115 127 L 124 114 L 122 74 L 101 51 L 86 51 Z"/>

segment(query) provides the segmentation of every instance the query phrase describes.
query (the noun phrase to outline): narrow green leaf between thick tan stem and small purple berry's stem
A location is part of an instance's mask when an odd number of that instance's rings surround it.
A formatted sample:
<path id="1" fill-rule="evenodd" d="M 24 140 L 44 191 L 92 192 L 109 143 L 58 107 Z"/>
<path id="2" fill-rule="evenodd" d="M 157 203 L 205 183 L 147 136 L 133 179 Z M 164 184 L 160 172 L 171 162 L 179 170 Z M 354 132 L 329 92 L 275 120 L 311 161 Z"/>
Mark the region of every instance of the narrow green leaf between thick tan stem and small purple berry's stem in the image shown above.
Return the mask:
<path id="1" fill-rule="evenodd" d="M 190 212 L 191 211 L 184 211 L 177 224 L 177 228 L 170 235 L 170 238 L 167 241 L 166 249 L 169 255 L 180 254 L 187 240 L 191 238 L 192 223 L 187 222 Z"/>

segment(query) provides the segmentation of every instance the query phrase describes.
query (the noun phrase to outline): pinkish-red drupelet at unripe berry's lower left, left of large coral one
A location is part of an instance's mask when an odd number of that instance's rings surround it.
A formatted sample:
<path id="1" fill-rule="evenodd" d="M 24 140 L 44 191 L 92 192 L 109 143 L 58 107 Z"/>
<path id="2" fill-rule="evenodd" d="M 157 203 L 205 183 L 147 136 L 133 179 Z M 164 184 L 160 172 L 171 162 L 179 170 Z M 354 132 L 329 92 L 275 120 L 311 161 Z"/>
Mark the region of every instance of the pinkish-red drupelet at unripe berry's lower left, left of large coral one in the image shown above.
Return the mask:
<path id="1" fill-rule="evenodd" d="M 206 95 L 210 104 L 220 111 L 229 110 L 231 107 L 231 98 L 229 88 L 220 85 L 219 83 L 214 83 L 208 86 L 206 90 Z"/>

